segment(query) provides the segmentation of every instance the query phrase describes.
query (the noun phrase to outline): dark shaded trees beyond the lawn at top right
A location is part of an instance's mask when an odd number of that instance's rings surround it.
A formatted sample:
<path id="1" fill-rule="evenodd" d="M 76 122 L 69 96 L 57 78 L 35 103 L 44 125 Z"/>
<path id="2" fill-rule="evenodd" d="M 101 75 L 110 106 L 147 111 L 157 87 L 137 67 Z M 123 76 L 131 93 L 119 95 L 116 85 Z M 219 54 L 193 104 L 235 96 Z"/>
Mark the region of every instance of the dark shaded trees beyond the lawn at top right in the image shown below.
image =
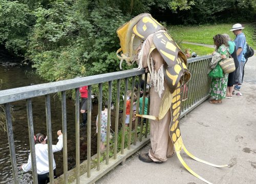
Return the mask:
<path id="1" fill-rule="evenodd" d="M 255 13 L 255 5 L 255 0 L 198 0 L 190 9 L 171 14 L 169 23 L 189 25 L 251 21 Z"/>

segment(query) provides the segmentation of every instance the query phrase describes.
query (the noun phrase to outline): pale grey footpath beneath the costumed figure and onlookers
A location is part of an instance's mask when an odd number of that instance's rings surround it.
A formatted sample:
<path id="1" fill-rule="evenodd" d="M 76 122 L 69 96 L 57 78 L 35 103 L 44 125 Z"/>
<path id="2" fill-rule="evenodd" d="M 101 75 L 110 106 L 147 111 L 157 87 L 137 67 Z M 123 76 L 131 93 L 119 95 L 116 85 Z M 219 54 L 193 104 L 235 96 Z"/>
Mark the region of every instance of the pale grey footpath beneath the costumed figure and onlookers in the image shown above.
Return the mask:
<path id="1" fill-rule="evenodd" d="M 222 104 L 209 104 L 207 100 L 181 119 L 182 139 L 188 151 L 213 164 L 228 164 L 226 168 L 211 167 L 181 152 L 186 164 L 212 183 L 256 183 L 255 56 L 245 65 L 240 92 L 243 96 L 234 95 Z M 191 175 L 176 155 L 163 164 L 141 162 L 138 154 L 149 148 L 150 145 L 144 147 L 96 183 L 204 183 Z"/>

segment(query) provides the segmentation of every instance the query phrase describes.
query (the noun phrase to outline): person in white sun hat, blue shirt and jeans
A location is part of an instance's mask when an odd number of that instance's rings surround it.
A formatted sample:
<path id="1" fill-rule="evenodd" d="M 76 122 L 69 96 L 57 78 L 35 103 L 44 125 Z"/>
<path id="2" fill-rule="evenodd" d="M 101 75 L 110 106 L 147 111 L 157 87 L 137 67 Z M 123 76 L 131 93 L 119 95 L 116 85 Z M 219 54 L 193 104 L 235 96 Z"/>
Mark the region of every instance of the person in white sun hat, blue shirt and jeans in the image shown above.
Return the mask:
<path id="1" fill-rule="evenodd" d="M 246 62 L 246 59 L 244 58 L 244 54 L 243 54 L 245 45 L 246 45 L 246 39 L 245 39 L 244 33 L 242 33 L 242 29 L 244 29 L 244 27 L 242 27 L 241 24 L 235 24 L 230 30 L 234 33 L 234 35 L 236 35 L 236 39 L 234 39 L 234 43 L 236 44 L 237 57 L 239 61 L 239 66 L 235 75 L 236 85 L 234 86 L 234 89 L 236 90 L 240 90 L 240 87 L 242 85 L 243 68 Z"/>

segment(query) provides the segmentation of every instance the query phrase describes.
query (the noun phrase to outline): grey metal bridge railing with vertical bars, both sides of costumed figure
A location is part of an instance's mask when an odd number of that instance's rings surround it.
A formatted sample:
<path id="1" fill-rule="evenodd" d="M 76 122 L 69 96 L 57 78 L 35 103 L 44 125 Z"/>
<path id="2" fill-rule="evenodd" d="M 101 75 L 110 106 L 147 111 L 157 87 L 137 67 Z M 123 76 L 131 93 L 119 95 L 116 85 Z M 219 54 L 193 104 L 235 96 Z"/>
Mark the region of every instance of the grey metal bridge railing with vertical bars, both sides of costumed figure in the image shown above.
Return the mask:
<path id="1" fill-rule="evenodd" d="M 195 108 L 201 102 L 209 97 L 209 79 L 207 76 L 207 66 L 209 63 L 211 56 L 202 56 L 193 59 L 188 59 L 188 69 L 191 72 L 191 80 L 188 82 L 186 88 L 187 100 L 182 104 L 182 112 L 181 116 L 184 116 L 191 109 Z M 38 96 L 45 96 L 45 106 L 46 106 L 46 122 L 47 122 L 47 136 L 48 136 L 48 155 L 49 155 L 49 167 L 50 167 L 50 183 L 54 183 L 53 176 L 53 154 L 52 154 L 52 129 L 51 129 L 51 103 L 50 103 L 50 95 L 54 93 L 61 93 L 61 108 L 62 108 L 62 133 L 63 133 L 63 183 L 70 183 L 72 181 L 68 181 L 69 173 L 68 172 L 68 151 L 67 151 L 67 110 L 66 110 L 66 91 L 70 89 L 75 89 L 75 137 L 76 137 L 76 167 L 73 170 L 75 180 L 73 183 L 93 183 L 108 171 L 113 169 L 120 163 L 124 163 L 125 159 L 135 153 L 137 150 L 146 145 L 150 138 L 148 136 L 147 127 L 148 121 L 146 124 L 143 124 L 143 119 L 141 118 L 140 122 L 138 122 L 138 118 L 135 120 L 135 125 L 129 126 L 127 130 L 125 130 L 125 103 L 123 103 L 123 117 L 122 121 L 119 119 L 119 106 L 120 106 L 120 92 L 124 94 L 124 99 L 126 99 L 126 93 L 128 89 L 132 90 L 132 99 L 134 96 L 134 86 L 136 81 L 142 80 L 142 75 L 145 73 L 144 70 L 127 70 L 120 71 L 108 74 L 101 74 L 96 76 L 75 78 L 70 80 L 51 82 L 45 84 L 38 84 L 33 86 L 19 87 L 7 90 L 0 91 L 0 104 L 4 104 L 5 113 L 6 113 L 6 123 L 7 123 L 7 133 L 8 133 L 8 142 L 10 148 L 10 156 L 11 156 L 11 164 L 12 164 L 12 173 L 14 183 L 19 183 L 19 177 L 17 172 L 17 162 L 15 156 L 15 145 L 14 145 L 14 135 L 12 129 L 12 118 L 10 111 L 10 103 L 26 100 L 27 102 L 27 119 L 28 119 L 28 133 L 29 133 L 29 144 L 31 151 L 31 160 L 32 160 L 32 175 L 33 175 L 33 183 L 37 183 L 37 173 L 36 173 L 36 158 L 35 158 L 35 143 L 34 143 L 34 128 L 33 128 L 33 114 L 32 114 L 32 98 Z M 146 79 L 147 74 L 145 74 Z M 100 162 L 100 125 L 101 125 L 101 109 L 102 109 L 102 86 L 103 83 L 108 83 L 108 106 L 111 106 L 113 90 L 112 85 L 113 82 L 116 83 L 116 105 L 115 105 L 115 130 L 114 130 L 114 141 L 112 145 L 110 144 L 110 114 L 111 109 L 108 108 L 108 124 L 107 124 L 107 135 L 106 135 L 106 153 L 105 153 L 105 161 Z M 92 86 L 98 85 L 98 138 L 97 138 L 97 155 L 96 159 L 96 168 L 91 169 L 92 164 L 92 156 L 91 156 L 91 136 L 92 136 L 92 121 L 91 121 L 91 94 L 92 94 Z M 123 85 L 122 85 L 123 84 Z M 87 124 L 87 172 L 85 174 L 80 175 L 80 135 L 79 135 L 79 87 L 80 86 L 88 86 L 88 124 Z M 142 111 L 144 111 L 145 104 L 145 89 L 146 83 L 144 83 L 144 92 L 143 92 L 143 107 Z M 183 91 L 183 94 L 184 91 Z M 136 111 L 138 113 L 139 109 L 139 96 L 140 91 L 137 91 L 137 106 Z M 150 100 L 150 99 L 148 99 Z M 125 101 L 124 101 L 125 102 Z M 148 112 L 149 112 L 149 103 L 148 102 Z M 132 125 L 132 107 L 130 113 L 130 125 Z M 122 128 L 119 127 L 119 123 L 122 123 Z M 121 133 L 121 146 L 118 148 L 118 132 Z M 125 133 L 127 131 L 127 144 L 125 146 Z M 142 133 L 143 132 L 143 133 Z M 120 143 L 119 143 L 120 144 Z M 110 149 L 113 150 L 110 150 Z M 110 153 L 113 153 L 110 154 Z"/>

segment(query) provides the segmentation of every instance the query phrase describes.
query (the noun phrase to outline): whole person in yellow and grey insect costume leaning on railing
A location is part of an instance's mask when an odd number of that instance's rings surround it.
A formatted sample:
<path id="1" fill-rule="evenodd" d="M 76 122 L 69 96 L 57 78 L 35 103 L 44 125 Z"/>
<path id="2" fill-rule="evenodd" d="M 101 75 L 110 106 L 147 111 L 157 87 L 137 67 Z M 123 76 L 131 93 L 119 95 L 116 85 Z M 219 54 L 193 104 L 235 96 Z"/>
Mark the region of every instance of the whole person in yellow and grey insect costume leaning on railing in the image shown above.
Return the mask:
<path id="1" fill-rule="evenodd" d="M 139 155 L 146 163 L 163 163 L 176 152 L 182 165 L 194 176 L 205 180 L 191 170 L 180 152 L 182 149 L 199 162 L 215 166 L 189 153 L 181 139 L 179 121 L 181 114 L 182 88 L 190 80 L 186 67 L 187 58 L 167 30 L 150 14 L 140 14 L 117 30 L 121 48 L 117 51 L 120 61 L 128 65 L 135 61 L 138 69 L 150 72 L 150 115 L 136 114 L 150 119 L 151 149 Z M 146 80 L 145 80 L 146 81 Z"/>

